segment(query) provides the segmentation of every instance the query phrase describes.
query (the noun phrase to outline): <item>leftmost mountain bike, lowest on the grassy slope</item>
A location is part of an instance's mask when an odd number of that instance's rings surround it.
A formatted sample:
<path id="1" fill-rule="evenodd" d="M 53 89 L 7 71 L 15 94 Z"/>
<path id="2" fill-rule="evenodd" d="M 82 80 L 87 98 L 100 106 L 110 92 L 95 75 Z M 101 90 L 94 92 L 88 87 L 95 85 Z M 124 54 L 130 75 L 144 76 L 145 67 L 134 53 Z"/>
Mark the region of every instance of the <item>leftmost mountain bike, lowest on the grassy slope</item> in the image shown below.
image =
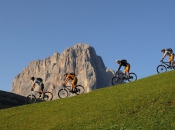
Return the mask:
<path id="1" fill-rule="evenodd" d="M 41 102 L 41 101 L 50 101 L 53 99 L 53 94 L 49 91 L 44 91 L 44 97 L 41 94 L 41 92 L 38 91 L 31 91 L 31 94 L 29 94 L 26 97 L 26 103 L 35 103 L 35 102 Z"/>

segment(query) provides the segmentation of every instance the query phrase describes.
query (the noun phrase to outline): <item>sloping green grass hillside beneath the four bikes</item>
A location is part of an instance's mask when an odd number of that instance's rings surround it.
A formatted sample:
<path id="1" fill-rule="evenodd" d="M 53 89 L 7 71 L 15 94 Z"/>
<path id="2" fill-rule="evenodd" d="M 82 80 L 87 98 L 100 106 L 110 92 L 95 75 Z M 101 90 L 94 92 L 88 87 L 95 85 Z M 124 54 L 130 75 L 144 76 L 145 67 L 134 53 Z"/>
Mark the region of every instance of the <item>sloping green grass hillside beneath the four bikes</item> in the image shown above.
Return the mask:
<path id="1" fill-rule="evenodd" d="M 175 71 L 0 110 L 0 130 L 174 130 Z"/>

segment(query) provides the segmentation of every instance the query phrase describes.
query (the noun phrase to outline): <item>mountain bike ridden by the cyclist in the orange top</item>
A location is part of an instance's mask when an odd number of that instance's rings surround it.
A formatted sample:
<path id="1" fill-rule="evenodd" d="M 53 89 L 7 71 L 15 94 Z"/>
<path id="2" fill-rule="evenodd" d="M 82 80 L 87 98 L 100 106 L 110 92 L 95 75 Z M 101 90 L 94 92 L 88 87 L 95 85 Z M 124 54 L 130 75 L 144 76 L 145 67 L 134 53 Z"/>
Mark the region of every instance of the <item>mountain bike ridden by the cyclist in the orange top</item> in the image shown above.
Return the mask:
<path id="1" fill-rule="evenodd" d="M 66 98 L 71 94 L 80 95 L 84 93 L 84 87 L 82 85 L 76 85 L 74 91 L 71 91 L 71 86 L 62 85 L 62 88 L 58 91 L 59 98 Z"/>

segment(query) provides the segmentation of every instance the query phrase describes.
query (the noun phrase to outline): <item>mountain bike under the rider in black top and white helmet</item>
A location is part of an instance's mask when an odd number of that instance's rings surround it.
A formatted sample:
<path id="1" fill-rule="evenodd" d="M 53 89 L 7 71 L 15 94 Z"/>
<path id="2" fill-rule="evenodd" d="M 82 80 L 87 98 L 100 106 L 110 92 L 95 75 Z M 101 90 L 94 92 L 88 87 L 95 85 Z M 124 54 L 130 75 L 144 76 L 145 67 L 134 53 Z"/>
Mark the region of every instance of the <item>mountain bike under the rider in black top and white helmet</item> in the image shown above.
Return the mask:
<path id="1" fill-rule="evenodd" d="M 112 85 L 133 82 L 137 80 L 137 75 L 135 73 L 129 73 L 130 76 L 124 73 L 115 73 L 115 74 L 116 75 L 112 78 Z"/>

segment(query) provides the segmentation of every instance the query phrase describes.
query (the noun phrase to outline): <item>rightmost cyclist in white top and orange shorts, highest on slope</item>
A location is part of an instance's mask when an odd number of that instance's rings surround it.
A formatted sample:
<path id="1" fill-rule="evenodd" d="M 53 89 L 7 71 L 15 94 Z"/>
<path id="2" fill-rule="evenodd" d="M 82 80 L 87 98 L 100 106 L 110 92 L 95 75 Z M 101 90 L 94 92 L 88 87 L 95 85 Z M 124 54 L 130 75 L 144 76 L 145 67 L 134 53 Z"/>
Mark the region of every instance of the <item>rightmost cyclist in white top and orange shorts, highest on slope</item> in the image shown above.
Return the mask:
<path id="1" fill-rule="evenodd" d="M 162 49 L 161 52 L 163 53 L 163 57 L 162 57 L 161 62 L 168 55 L 169 56 L 168 62 L 170 64 L 170 67 L 172 67 L 172 65 L 175 64 L 173 50 L 171 48 L 168 48 L 168 49 Z M 168 67 L 168 68 L 170 68 L 170 67 Z"/>

